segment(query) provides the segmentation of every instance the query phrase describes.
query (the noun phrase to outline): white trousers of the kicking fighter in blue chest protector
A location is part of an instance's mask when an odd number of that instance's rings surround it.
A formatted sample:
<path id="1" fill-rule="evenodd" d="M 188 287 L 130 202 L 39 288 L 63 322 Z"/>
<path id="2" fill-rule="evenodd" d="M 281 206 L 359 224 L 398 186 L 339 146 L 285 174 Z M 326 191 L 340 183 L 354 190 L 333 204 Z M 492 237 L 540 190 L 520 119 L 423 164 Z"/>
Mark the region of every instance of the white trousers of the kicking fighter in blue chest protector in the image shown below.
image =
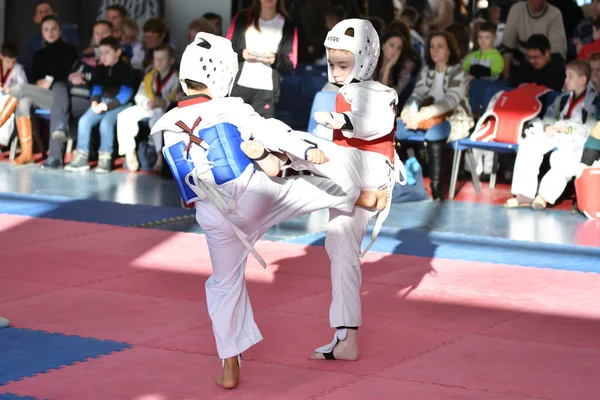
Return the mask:
<path id="1" fill-rule="evenodd" d="M 229 220 L 248 235 L 252 245 L 272 226 L 287 219 L 323 208 L 351 212 L 360 193 L 358 189 L 344 192 L 330 179 L 269 178 L 251 167 L 222 188 L 235 200 Z M 244 278 L 248 249 L 211 202 L 197 201 L 195 206 L 196 220 L 206 232 L 213 268 L 206 282 L 206 300 L 217 351 L 220 358 L 233 357 L 262 340 Z"/>

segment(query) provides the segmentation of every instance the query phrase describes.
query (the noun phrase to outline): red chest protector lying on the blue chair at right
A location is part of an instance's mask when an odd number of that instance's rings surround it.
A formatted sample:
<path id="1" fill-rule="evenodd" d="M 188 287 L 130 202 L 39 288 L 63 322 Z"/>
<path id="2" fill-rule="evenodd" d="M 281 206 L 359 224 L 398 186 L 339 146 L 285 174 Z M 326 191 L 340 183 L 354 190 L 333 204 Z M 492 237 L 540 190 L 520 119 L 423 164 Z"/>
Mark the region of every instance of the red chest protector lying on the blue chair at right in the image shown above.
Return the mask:
<path id="1" fill-rule="evenodd" d="M 479 118 L 471 140 L 518 144 L 525 123 L 540 113 L 540 97 L 548 92 L 547 87 L 532 83 L 503 92 Z"/>

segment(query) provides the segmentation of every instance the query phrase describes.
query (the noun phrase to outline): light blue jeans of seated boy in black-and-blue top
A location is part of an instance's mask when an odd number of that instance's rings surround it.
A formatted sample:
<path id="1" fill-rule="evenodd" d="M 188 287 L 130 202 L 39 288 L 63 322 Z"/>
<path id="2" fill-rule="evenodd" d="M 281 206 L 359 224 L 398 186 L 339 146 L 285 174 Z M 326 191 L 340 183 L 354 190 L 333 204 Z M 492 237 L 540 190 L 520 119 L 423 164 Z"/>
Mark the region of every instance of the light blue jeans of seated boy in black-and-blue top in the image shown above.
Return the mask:
<path id="1" fill-rule="evenodd" d="M 102 99 L 106 101 L 108 99 Z M 90 151 L 90 139 L 92 137 L 92 129 L 100 124 L 100 153 L 113 152 L 113 144 L 115 141 L 115 127 L 117 126 L 117 114 L 129 107 L 129 104 L 117 107 L 110 111 L 96 114 L 92 108 L 83 114 L 79 119 L 77 126 L 77 150 L 88 153 Z"/>

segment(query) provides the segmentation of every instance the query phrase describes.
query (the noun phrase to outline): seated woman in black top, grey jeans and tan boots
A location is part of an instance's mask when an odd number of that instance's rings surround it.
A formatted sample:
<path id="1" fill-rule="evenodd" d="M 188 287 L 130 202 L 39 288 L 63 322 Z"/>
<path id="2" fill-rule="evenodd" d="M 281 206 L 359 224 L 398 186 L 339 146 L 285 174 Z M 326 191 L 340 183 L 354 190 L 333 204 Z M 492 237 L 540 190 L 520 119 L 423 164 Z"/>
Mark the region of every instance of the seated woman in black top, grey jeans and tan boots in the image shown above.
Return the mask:
<path id="1" fill-rule="evenodd" d="M 12 88 L 11 97 L 0 112 L 0 126 L 16 110 L 17 131 L 21 143 L 21 155 L 15 164 L 28 164 L 33 161 L 33 143 L 31 132 L 31 107 L 49 110 L 52 106 L 54 81 L 66 80 L 71 68 L 77 62 L 77 49 L 65 43 L 61 38 L 60 21 L 54 15 L 44 17 L 41 23 L 44 46 L 33 57 L 34 84 L 19 84 Z M 54 129 L 52 121 L 50 129 Z"/>

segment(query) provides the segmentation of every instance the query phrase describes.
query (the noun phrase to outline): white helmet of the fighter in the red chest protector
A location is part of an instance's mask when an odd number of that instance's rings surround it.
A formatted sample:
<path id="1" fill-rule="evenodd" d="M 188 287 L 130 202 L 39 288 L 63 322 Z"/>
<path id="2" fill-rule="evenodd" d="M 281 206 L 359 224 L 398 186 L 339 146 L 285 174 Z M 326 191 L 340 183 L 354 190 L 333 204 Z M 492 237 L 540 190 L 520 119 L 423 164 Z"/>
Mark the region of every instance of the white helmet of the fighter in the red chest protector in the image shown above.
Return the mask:
<path id="1" fill-rule="evenodd" d="M 354 55 L 354 69 L 344 81 L 344 84 L 353 79 L 366 81 L 375 71 L 379 60 L 379 35 L 371 22 L 365 19 L 345 19 L 337 23 L 325 38 L 327 58 L 329 50 L 346 50 Z M 331 75 L 331 68 L 327 68 L 329 82 L 335 83 Z"/>

